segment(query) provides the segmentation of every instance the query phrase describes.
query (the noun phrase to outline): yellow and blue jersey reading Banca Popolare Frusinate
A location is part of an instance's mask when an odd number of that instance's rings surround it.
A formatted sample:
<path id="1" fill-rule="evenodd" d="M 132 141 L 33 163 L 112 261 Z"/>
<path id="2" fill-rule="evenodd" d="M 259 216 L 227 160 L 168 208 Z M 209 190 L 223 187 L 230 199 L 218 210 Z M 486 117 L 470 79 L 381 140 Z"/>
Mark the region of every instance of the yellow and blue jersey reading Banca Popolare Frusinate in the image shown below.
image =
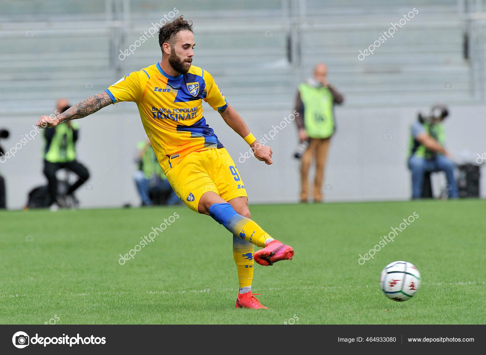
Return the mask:
<path id="1" fill-rule="evenodd" d="M 164 173 L 193 151 L 223 148 L 203 116 L 202 101 L 214 110 L 228 106 L 212 76 L 191 65 L 187 74 L 167 75 L 160 63 L 122 77 L 105 90 L 113 103 L 137 103 Z"/>

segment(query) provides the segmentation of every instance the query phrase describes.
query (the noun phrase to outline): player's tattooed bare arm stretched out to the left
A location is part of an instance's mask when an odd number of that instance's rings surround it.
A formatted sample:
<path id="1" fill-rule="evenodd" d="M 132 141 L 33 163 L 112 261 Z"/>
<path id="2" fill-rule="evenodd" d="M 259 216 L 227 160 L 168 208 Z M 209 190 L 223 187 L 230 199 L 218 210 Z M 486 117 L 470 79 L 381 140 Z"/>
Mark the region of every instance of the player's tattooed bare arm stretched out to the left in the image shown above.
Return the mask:
<path id="1" fill-rule="evenodd" d="M 37 122 L 37 127 L 55 127 L 60 123 L 75 120 L 77 118 L 83 118 L 87 115 L 94 113 L 105 106 L 113 103 L 113 100 L 106 92 L 97 93 L 96 95 L 89 96 L 87 99 L 78 102 L 76 105 L 71 106 L 69 110 L 57 115 L 56 117 L 42 116 Z"/>

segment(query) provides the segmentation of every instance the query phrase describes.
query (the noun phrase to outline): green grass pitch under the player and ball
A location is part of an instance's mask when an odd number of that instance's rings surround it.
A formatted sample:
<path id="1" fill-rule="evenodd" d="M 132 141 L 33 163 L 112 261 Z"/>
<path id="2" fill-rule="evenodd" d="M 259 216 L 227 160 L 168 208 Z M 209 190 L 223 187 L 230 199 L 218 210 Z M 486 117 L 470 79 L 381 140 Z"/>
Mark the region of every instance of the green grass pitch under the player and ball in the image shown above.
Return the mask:
<path id="1" fill-rule="evenodd" d="M 255 264 L 253 292 L 268 310 L 235 309 L 231 235 L 185 206 L 0 212 L 2 324 L 485 324 L 486 201 L 250 206 L 295 257 Z M 174 212 L 178 219 L 126 254 Z M 364 255 L 419 216 L 374 259 Z M 402 225 L 403 226 L 403 225 Z M 389 262 L 414 263 L 416 296 L 387 299 Z M 57 318 L 59 319 L 57 319 Z"/>

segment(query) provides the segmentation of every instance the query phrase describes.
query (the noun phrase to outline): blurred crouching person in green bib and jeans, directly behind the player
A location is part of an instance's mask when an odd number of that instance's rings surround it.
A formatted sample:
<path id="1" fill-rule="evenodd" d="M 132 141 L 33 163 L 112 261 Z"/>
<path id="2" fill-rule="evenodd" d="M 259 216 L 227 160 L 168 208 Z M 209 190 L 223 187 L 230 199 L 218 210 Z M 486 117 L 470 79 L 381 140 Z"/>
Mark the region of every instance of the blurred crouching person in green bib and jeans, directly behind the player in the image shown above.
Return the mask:
<path id="1" fill-rule="evenodd" d="M 139 169 L 135 172 L 134 179 L 142 199 L 142 206 L 179 204 L 181 200 L 160 168 L 150 140 L 139 142 L 138 149 Z"/>

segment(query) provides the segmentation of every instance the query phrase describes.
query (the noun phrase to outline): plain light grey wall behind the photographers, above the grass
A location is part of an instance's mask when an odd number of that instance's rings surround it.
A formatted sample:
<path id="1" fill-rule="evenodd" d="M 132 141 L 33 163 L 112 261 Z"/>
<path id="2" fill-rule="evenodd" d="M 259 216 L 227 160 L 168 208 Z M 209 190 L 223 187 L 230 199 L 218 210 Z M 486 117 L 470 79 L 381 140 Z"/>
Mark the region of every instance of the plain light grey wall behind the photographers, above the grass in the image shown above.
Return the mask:
<path id="1" fill-rule="evenodd" d="M 281 111 L 251 111 L 237 107 L 257 136 L 271 133 L 292 113 L 292 103 Z M 419 108 L 337 107 L 337 132 L 328 156 L 325 184 L 326 201 L 406 200 L 411 195 L 410 173 L 406 167 L 409 127 Z M 486 152 L 485 106 L 453 106 L 446 121 L 447 147 L 461 158 Z M 0 144 L 10 149 L 32 130 L 41 114 L 9 115 L 0 119 L 0 128 L 11 132 Z M 255 158 L 243 161 L 240 153 L 248 146 L 226 126 L 217 112 L 205 104 L 205 117 L 233 157 L 251 203 L 296 202 L 299 197 L 299 163 L 292 158 L 296 147 L 295 122 L 279 130 L 269 143 L 274 164 L 266 166 Z M 133 103 L 109 106 L 78 121 L 81 125 L 78 159 L 89 168 L 91 177 L 77 192 L 82 207 L 139 205 L 132 180 L 137 142 L 144 139 L 138 112 Z M 285 126 L 285 124 L 282 124 Z M 391 139 L 388 139 L 391 138 Z M 43 138 L 25 140 L 15 157 L 0 163 L 6 179 L 7 206 L 22 208 L 33 187 L 46 183 L 42 174 Z M 17 145 L 19 147 L 19 145 Z M 240 162 L 238 161 L 240 157 Z M 443 174 L 433 177 L 434 193 L 445 185 Z M 482 168 L 481 194 L 486 196 L 486 171 Z"/>

